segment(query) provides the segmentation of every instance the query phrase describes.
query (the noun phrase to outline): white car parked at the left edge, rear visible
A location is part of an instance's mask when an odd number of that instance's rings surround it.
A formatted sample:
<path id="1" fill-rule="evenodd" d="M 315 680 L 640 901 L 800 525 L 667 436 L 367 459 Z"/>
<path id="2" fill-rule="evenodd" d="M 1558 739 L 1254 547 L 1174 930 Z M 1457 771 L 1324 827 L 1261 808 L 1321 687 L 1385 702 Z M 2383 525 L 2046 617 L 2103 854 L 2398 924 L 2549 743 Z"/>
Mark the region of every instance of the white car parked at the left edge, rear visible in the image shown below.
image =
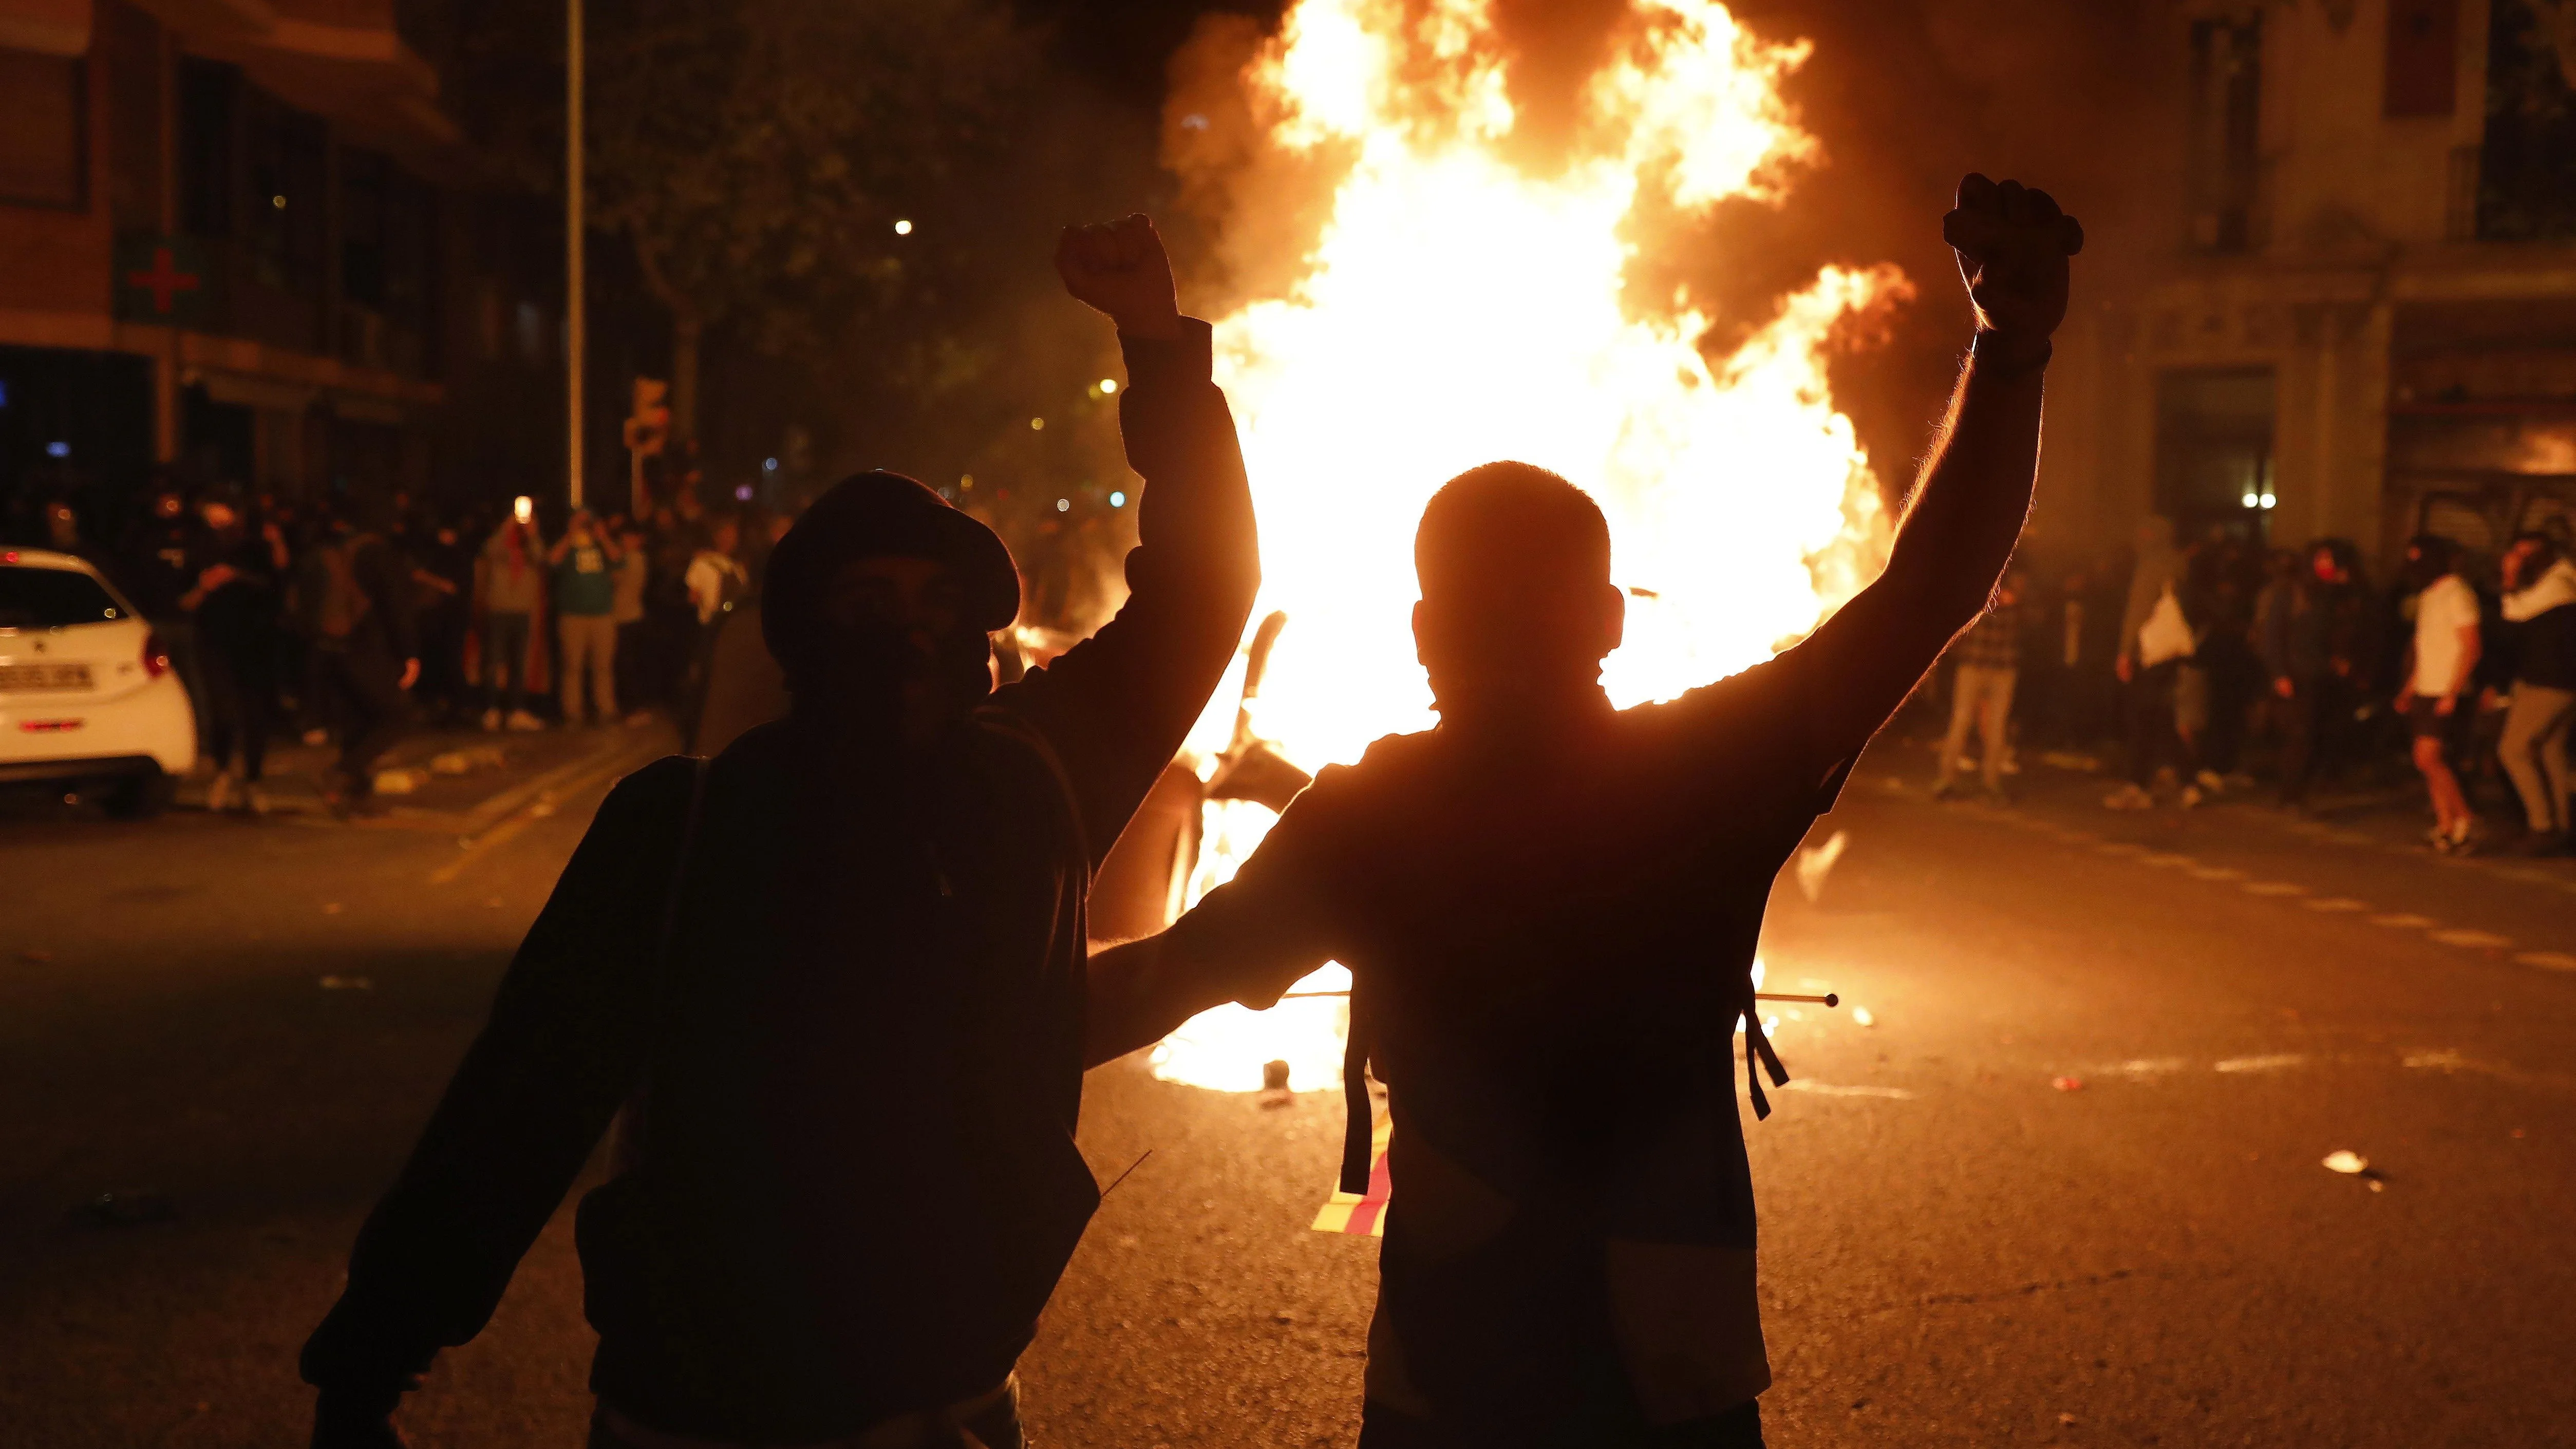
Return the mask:
<path id="1" fill-rule="evenodd" d="M 98 790 L 142 818 L 193 764 L 188 687 L 134 605 L 70 553 L 0 548 L 0 785 Z"/>

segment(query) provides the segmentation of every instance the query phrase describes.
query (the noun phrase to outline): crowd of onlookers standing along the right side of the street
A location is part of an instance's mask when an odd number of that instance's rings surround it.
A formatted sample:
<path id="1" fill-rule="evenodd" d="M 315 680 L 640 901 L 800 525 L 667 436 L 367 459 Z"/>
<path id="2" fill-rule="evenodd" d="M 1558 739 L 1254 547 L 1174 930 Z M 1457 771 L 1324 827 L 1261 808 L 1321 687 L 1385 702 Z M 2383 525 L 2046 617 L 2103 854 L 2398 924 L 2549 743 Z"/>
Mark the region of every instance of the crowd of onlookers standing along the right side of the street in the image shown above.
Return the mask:
<path id="1" fill-rule="evenodd" d="M 2571 854 L 2576 538 L 2566 520 L 2481 558 L 2416 535 L 2383 587 L 2352 540 L 2177 546 L 2146 520 L 2120 569 L 2014 569 L 1950 649 L 1937 795 L 2009 798 L 2020 754 L 2099 759 L 2112 811 L 2269 790 L 2380 788 L 2411 764 L 2447 854 Z M 2401 764 L 2403 762 L 2403 764 Z M 2481 806 L 2486 806 L 2481 811 Z M 2491 829 L 2486 818 L 2506 821 Z"/>

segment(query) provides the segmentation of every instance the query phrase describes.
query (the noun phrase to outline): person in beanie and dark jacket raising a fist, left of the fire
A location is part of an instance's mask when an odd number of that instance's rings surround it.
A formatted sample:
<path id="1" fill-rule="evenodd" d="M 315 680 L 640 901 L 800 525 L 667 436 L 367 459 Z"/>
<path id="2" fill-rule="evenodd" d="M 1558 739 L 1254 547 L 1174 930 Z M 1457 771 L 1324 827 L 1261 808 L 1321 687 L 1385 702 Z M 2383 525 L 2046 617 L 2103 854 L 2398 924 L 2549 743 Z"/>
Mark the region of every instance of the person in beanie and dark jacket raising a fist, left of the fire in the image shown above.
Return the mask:
<path id="1" fill-rule="evenodd" d="M 1002 540 L 896 474 L 817 499 L 762 597 L 793 705 L 600 806 L 304 1346 L 317 1446 L 402 1441 L 623 1107 L 577 1215 L 595 1449 L 1018 1449 L 1012 1364 L 1097 1204 L 1084 891 L 1260 574 L 1154 226 L 1056 268 L 1126 350 L 1128 605 L 997 692 Z"/>

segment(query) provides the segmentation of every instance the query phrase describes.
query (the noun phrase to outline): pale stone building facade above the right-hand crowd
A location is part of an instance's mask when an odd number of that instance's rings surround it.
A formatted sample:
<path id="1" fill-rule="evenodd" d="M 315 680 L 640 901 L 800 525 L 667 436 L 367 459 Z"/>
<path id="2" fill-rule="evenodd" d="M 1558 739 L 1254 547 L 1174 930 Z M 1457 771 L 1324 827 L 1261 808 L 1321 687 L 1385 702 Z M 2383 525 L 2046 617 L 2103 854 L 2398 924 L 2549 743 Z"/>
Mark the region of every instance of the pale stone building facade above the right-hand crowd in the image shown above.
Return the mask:
<path id="1" fill-rule="evenodd" d="M 2576 525 L 2576 0 L 2202 3 L 2169 36 L 2172 234 L 2063 337 L 2053 533 L 2385 566 Z"/>

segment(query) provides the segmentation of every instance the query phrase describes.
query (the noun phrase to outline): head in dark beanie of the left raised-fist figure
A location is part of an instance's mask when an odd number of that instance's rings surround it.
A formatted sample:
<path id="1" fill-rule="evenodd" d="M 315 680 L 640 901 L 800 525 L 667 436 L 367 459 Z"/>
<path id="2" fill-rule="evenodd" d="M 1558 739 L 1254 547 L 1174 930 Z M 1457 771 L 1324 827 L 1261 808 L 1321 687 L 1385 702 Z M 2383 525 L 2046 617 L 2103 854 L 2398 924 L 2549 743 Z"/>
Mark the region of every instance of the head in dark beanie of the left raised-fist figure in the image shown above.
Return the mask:
<path id="1" fill-rule="evenodd" d="M 1010 548 L 902 474 L 832 484 L 778 540 L 760 636 L 796 713 L 922 739 L 992 690 L 989 633 L 1020 613 Z"/>

